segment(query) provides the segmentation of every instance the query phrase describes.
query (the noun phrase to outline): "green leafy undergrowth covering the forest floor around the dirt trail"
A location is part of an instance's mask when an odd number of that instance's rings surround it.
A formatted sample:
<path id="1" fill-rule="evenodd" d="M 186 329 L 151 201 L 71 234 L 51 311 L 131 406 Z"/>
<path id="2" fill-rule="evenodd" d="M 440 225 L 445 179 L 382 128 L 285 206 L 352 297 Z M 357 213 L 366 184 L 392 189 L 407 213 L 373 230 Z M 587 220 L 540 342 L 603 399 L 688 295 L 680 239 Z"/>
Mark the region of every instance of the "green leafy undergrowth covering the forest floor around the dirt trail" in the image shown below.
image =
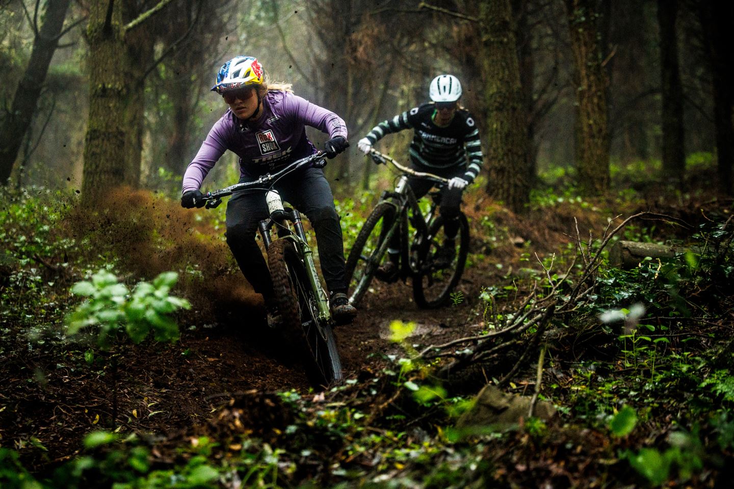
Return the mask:
<path id="1" fill-rule="evenodd" d="M 366 193 L 338 202 L 347 247 L 374 199 Z M 429 345 L 411 336 L 416 324 L 395 321 L 393 350 L 352 372 L 343 386 L 319 394 L 231 394 L 208 421 L 165 435 L 150 433 L 152 425 L 134 429 L 142 411 L 128 414 L 126 423 L 115 407 L 65 433 L 76 444 L 66 452 L 50 450 L 43 430 L 31 426 L 45 425 L 43 416 L 11 428 L 18 403 L 10 387 L 0 388 L 1 487 L 716 484 L 734 462 L 730 209 L 694 201 L 658 207 L 670 218 L 633 221 L 602 250 L 603 227 L 649 204 L 649 196 L 592 202 L 573 190 L 545 191 L 534 196 L 524 221 L 482 199 L 478 189 L 466 199 L 469 266 L 485 271 L 487 283 L 476 297 L 453 295 L 449 306 L 468 317 L 471 334 L 488 334 L 521 315 L 534 304 L 523 302 L 531 291 L 539 291 L 535 302 L 554 295 L 562 304 L 584 269 L 574 262 L 579 248 L 600 257 L 584 300 L 553 316 L 542 334 L 538 350 L 545 356 L 520 359 L 522 368 L 504 383 L 512 396 L 536 391 L 537 402 L 557 410 L 553 416 L 523 411 L 509 423 L 459 429 L 459 419 L 480 404 L 474 394 L 484 383 L 500 383 L 511 365 L 507 359 L 473 365 L 481 382 L 446 378 L 438 373 L 446 358 L 465 358 L 477 342 L 428 359 L 420 352 Z M 54 369 L 116 379 L 113 367 L 118 360 L 124 367 L 126 352 L 141 342 L 172 342 L 156 350 L 161 356 L 190 355 L 177 346 L 187 331 L 178 324 L 205 326 L 206 306 L 197 296 L 214 287 L 208 273 L 236 273 L 222 246 L 222 215 L 182 217 L 176 202 L 162 197 L 146 205 L 118 208 L 116 216 L 98 213 L 94 225 L 81 226 L 86 211 L 74 194 L 28 188 L 1 196 L 0 357 L 10 366 L 7 378 L 41 391 Z M 157 220 L 146 222 L 146 215 Z M 581 232 L 574 239 L 575 228 Z M 595 235 L 585 236 L 586 229 Z M 138 233 L 137 251 L 123 239 L 130 232 Z M 607 251 L 620 239 L 685 251 L 614 268 Z M 206 266 L 196 260 L 204 255 Z M 221 287 L 212 295 L 225 289 L 238 293 Z M 154 416 L 155 402 L 146 402 Z"/>

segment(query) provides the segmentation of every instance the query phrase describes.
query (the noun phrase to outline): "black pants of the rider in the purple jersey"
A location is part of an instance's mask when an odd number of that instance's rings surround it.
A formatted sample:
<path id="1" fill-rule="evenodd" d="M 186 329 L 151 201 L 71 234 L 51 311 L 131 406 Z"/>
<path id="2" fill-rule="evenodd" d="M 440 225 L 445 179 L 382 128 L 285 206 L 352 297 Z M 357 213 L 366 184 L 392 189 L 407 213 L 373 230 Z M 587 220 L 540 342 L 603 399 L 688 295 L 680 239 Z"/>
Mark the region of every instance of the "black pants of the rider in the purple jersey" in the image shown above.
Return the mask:
<path id="1" fill-rule="evenodd" d="M 243 178 L 240 181 L 248 181 Z M 346 290 L 344 243 L 334 196 L 323 170 L 308 168 L 286 175 L 274 185 L 280 196 L 304 213 L 316 232 L 321 273 L 330 292 Z M 258 223 L 268 217 L 264 190 L 235 194 L 227 205 L 227 244 L 242 274 L 255 292 L 272 295 L 272 282 L 255 234 Z"/>

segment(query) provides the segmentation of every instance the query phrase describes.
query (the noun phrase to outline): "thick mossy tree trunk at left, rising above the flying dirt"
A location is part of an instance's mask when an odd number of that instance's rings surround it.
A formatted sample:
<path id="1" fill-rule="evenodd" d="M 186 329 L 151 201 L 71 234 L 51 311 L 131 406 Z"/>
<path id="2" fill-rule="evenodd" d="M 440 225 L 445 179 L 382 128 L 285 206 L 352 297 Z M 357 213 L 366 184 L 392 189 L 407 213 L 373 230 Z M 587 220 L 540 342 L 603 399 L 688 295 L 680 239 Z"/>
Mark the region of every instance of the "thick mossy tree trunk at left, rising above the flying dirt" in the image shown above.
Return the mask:
<path id="1" fill-rule="evenodd" d="M 81 186 L 85 201 L 125 181 L 125 98 L 130 65 L 124 43 L 122 2 L 93 1 L 89 42 L 90 113 Z"/>

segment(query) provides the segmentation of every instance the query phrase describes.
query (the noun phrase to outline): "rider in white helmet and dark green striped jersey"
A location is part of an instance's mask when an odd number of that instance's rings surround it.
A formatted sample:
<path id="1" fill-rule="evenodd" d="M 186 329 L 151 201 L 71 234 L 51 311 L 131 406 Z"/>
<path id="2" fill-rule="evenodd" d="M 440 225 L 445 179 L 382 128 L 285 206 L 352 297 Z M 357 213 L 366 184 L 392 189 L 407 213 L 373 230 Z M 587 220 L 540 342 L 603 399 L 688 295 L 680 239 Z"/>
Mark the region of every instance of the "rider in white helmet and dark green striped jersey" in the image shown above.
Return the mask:
<path id="1" fill-rule="evenodd" d="M 445 241 L 437 251 L 438 264 L 454 260 L 454 240 L 459 231 L 459 206 L 464 188 L 473 182 L 482 169 L 482 142 L 474 118 L 459 106 L 461 84 L 453 75 L 440 75 L 429 85 L 432 103 L 398 114 L 391 120 L 380 122 L 357 147 L 367 154 L 372 145 L 385 134 L 413 129 L 413 141 L 408 153 L 413 169 L 429 172 L 450 179 L 441 196 L 440 213 L 446 219 Z M 408 184 L 415 197 L 420 199 L 431 190 L 433 183 L 409 177 Z M 379 267 L 377 278 L 394 282 L 398 277 L 400 237 L 393 235 L 388 243 L 388 257 Z"/>

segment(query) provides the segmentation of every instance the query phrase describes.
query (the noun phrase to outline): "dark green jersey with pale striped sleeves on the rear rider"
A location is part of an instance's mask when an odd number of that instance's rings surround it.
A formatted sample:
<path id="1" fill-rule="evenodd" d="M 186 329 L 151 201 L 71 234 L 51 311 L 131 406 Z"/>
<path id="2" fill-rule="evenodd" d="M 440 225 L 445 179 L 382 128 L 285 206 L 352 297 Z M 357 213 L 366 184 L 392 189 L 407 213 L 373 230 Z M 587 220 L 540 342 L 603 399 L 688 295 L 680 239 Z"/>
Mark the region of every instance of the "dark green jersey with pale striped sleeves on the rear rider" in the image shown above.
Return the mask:
<path id="1" fill-rule="evenodd" d="M 482 169 L 482 143 L 474 118 L 469 111 L 457 109 L 451 123 L 440 127 L 433 122 L 434 112 L 433 103 L 424 103 L 380 122 L 366 138 L 374 144 L 385 134 L 413 129 L 408 150 L 413 161 L 431 168 L 466 168 L 465 177 L 471 182 Z"/>

